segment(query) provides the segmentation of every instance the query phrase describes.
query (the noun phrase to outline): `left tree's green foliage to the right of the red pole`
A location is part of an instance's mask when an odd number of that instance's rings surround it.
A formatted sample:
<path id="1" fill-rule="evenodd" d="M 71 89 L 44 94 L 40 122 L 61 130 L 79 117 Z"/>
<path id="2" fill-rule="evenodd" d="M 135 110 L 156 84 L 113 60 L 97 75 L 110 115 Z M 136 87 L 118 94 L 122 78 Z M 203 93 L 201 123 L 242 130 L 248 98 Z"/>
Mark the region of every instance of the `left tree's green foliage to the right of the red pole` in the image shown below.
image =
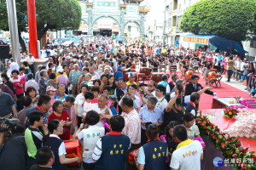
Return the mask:
<path id="1" fill-rule="evenodd" d="M 77 0 L 36 0 L 38 39 L 50 30 L 77 30 L 81 7 Z"/>

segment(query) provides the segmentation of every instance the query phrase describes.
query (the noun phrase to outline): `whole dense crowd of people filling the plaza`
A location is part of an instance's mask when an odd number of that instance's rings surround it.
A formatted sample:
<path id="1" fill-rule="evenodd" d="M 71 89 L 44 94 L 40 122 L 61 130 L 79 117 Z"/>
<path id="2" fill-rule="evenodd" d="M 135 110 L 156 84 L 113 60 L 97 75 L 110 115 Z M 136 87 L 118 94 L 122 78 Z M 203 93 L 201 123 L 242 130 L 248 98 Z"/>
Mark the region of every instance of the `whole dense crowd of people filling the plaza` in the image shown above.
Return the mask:
<path id="1" fill-rule="evenodd" d="M 177 65 L 183 73 L 198 66 L 206 82 L 211 69 L 227 72 L 228 82 L 248 82 L 253 65 L 247 68 L 246 60 L 230 53 L 103 40 L 43 48 L 49 62 L 37 69 L 32 54 L 24 53 L 22 65 L 10 59 L 10 75 L 2 73 L 0 80 L 0 119 L 20 122 L 15 128 L 1 123 L 12 137 L 2 148 L 0 169 L 62 170 L 76 161 L 84 170 L 201 169 L 195 118 L 201 94 L 217 96 L 212 87 L 203 88 L 195 74 L 188 83 L 172 74 L 147 84 L 137 82 L 134 72 L 124 75 L 139 60 L 152 72 L 160 65 Z M 83 144 L 83 160 L 66 157 L 64 141 L 73 137 Z M 0 146 L 3 139 L 0 131 Z"/>

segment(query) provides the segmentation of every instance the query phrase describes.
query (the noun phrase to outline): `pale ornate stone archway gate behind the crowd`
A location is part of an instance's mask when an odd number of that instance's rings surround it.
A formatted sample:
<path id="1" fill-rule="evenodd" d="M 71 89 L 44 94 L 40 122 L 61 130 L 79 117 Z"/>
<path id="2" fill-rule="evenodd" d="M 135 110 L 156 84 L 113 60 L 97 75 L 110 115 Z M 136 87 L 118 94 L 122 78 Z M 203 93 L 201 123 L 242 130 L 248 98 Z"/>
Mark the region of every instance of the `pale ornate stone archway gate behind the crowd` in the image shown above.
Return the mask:
<path id="1" fill-rule="evenodd" d="M 141 6 L 142 2 L 143 0 L 79 0 L 82 22 L 77 32 L 89 37 L 109 37 L 113 34 L 145 37 L 144 20 L 149 9 Z"/>

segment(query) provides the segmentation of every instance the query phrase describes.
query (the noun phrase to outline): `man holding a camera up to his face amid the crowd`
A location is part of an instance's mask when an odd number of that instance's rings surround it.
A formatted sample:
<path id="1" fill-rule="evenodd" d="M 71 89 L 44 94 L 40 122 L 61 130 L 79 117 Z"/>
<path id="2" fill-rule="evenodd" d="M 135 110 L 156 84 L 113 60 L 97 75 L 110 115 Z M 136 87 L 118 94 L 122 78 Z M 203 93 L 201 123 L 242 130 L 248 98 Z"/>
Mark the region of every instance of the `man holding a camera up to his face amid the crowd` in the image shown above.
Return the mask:
<path id="1" fill-rule="evenodd" d="M 156 84 L 154 81 L 148 82 L 148 88 L 145 88 L 145 84 L 143 82 L 139 84 L 139 92 L 141 95 L 141 99 L 143 100 L 142 107 L 146 105 L 149 96 L 155 97 L 155 86 Z"/>

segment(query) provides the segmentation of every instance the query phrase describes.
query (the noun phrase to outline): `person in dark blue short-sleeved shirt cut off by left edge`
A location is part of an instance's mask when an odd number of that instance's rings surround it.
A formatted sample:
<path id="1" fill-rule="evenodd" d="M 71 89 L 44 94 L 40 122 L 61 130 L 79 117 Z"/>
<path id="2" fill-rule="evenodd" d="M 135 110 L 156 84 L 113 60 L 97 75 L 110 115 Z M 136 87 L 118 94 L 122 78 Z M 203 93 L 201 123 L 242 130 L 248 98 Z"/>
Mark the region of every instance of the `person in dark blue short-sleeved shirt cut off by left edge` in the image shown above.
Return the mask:
<path id="1" fill-rule="evenodd" d="M 0 118 L 9 118 L 12 113 L 17 118 L 15 101 L 10 94 L 4 93 L 2 88 L 3 82 L 0 83 Z"/>

